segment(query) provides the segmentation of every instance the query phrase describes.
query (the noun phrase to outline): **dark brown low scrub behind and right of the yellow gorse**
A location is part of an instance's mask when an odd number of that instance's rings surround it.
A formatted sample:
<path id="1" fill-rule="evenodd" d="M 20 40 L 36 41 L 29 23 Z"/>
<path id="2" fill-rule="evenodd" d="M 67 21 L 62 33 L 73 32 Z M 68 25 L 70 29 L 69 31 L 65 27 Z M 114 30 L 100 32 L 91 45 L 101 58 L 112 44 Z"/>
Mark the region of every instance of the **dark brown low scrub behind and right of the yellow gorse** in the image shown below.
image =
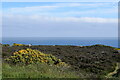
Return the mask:
<path id="1" fill-rule="evenodd" d="M 3 59 L 12 56 L 12 53 L 21 49 L 27 49 L 29 46 L 9 46 L 2 47 Z M 105 77 L 108 73 L 114 71 L 116 63 L 120 63 L 120 53 L 113 47 L 104 45 L 93 46 L 30 46 L 31 49 L 39 50 L 46 54 L 52 54 L 63 62 L 71 65 L 72 70 L 79 75 L 86 77 Z M 120 75 L 120 69 L 114 76 Z M 84 77 L 85 77 L 84 76 Z"/>

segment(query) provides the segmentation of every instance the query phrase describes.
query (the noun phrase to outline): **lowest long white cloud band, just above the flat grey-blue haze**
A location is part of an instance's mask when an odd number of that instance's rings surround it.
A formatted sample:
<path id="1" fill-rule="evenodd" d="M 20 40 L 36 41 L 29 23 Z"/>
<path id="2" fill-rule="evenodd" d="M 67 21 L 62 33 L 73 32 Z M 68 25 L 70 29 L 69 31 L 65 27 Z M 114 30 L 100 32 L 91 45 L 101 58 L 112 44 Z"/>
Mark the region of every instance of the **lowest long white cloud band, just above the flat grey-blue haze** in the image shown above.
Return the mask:
<path id="1" fill-rule="evenodd" d="M 35 20 L 35 21 L 53 21 L 53 22 L 88 22 L 88 23 L 117 23 L 118 19 L 115 18 L 96 18 L 96 17 L 48 17 L 48 16 L 39 16 L 39 15 L 4 15 L 4 17 L 22 20 L 25 18 Z"/>

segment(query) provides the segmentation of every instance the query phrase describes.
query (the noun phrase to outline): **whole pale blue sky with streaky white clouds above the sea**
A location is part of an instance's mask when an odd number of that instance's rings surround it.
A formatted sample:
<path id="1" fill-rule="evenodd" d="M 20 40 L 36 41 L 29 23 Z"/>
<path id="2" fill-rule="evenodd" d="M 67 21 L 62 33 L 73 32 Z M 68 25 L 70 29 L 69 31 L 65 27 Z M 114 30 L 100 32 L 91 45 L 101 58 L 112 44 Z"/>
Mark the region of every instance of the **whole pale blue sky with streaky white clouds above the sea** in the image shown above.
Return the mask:
<path id="1" fill-rule="evenodd" d="M 3 2 L 3 37 L 117 37 L 117 2 Z"/>

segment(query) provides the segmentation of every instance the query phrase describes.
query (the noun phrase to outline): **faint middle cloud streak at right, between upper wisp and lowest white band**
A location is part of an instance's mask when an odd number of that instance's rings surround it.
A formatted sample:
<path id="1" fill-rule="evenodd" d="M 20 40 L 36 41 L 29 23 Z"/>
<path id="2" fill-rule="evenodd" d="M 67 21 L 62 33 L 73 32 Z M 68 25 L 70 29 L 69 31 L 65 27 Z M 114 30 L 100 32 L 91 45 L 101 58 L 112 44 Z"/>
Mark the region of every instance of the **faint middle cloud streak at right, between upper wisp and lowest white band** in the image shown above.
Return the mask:
<path id="1" fill-rule="evenodd" d="M 112 8 L 112 9 L 99 9 L 99 10 L 95 9 L 95 10 L 86 10 L 86 11 L 68 11 L 68 12 L 54 13 L 54 15 L 56 14 L 56 15 L 62 15 L 62 16 L 68 16 L 68 15 L 71 15 L 71 16 L 72 15 L 76 15 L 76 16 L 77 15 L 79 15 L 79 16 L 88 15 L 88 16 L 91 16 L 91 14 L 92 14 L 94 16 L 96 16 L 96 15 L 103 15 L 104 16 L 104 15 L 111 15 L 112 14 L 112 16 L 115 16 L 115 15 L 117 15 L 117 13 L 118 13 L 118 9 L 117 8 Z M 52 14 L 49 13 L 49 15 L 52 15 Z"/>

